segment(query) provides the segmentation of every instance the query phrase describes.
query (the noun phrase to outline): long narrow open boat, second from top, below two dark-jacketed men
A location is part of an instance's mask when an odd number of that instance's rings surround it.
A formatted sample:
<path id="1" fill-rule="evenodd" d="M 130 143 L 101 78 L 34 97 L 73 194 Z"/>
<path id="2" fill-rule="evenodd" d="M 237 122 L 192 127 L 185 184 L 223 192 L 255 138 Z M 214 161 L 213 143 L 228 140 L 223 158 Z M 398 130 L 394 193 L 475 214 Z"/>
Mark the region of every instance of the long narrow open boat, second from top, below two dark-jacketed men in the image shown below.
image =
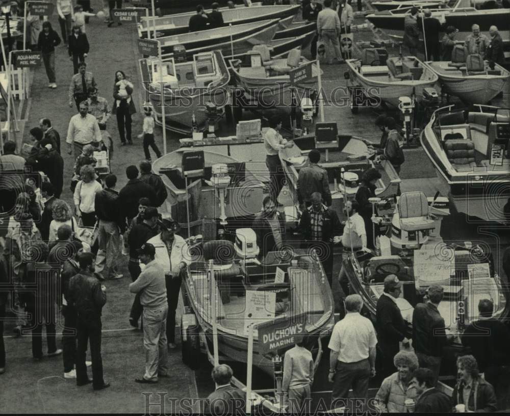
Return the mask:
<path id="1" fill-rule="evenodd" d="M 238 24 L 232 27 L 209 29 L 182 35 L 159 38 L 162 54 L 173 52 L 173 46 L 180 45 L 186 50 L 205 46 L 216 48 L 218 44 L 231 43 L 241 39 L 257 39 L 259 43 L 268 42 L 278 30 L 278 19 Z M 236 42 L 238 43 L 238 42 Z"/>

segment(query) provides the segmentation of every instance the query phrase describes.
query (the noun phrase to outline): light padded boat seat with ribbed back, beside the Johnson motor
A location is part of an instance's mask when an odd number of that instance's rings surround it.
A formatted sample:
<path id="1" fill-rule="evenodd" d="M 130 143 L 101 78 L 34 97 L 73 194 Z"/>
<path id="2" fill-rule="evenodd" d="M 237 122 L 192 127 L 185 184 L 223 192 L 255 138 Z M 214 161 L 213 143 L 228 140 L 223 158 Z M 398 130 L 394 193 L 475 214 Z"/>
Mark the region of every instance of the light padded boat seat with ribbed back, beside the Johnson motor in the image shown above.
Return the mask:
<path id="1" fill-rule="evenodd" d="M 404 192 L 398 200 L 400 227 L 404 231 L 421 231 L 432 227 L 435 220 L 428 215 L 428 200 L 423 192 Z"/>

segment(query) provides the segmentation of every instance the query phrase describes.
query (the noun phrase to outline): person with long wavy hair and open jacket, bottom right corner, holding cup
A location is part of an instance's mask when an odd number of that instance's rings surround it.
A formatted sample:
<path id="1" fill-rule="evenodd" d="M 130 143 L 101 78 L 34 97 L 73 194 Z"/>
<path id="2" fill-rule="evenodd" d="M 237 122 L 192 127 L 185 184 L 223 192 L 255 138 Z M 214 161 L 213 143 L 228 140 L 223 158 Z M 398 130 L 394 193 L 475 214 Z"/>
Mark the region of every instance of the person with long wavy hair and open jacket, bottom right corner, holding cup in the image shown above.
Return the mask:
<path id="1" fill-rule="evenodd" d="M 472 355 L 457 358 L 458 382 L 453 388 L 453 406 L 464 404 L 466 411 L 492 413 L 498 410 L 494 387 L 484 380 Z"/>

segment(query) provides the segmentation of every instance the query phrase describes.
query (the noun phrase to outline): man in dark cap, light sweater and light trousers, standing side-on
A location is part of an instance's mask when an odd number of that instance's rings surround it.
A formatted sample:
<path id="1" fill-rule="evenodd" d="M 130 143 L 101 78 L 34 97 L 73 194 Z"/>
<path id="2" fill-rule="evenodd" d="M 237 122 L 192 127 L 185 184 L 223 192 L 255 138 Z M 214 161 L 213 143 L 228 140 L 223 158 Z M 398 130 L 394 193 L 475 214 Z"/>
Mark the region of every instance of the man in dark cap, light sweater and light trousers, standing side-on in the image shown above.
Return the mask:
<path id="1" fill-rule="evenodd" d="M 165 272 L 155 261 L 156 248 L 145 243 L 136 250 L 145 268 L 129 285 L 131 293 L 140 295 L 143 306 L 143 346 L 145 348 L 145 374 L 135 381 L 154 384 L 158 377 L 167 377 L 168 349 L 166 345 L 166 298 Z"/>

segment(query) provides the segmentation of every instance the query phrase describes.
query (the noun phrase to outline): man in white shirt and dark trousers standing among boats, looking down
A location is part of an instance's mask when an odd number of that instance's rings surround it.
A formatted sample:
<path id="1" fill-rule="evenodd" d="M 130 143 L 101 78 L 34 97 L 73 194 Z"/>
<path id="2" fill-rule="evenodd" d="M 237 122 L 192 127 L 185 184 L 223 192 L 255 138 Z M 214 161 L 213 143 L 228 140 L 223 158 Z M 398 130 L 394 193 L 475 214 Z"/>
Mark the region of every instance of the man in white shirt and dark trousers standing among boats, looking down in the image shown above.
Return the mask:
<path id="1" fill-rule="evenodd" d="M 271 119 L 270 128 L 264 135 L 264 147 L 266 148 L 266 166 L 269 169 L 269 177 L 271 180 L 271 196 L 276 206 L 283 206 L 278 203 L 278 195 L 283 188 L 285 175 L 283 167 L 278 156 L 278 152 L 282 149 L 288 149 L 294 146 L 294 142 L 287 142 L 279 130 L 282 128 L 282 119 L 275 117 Z"/>

